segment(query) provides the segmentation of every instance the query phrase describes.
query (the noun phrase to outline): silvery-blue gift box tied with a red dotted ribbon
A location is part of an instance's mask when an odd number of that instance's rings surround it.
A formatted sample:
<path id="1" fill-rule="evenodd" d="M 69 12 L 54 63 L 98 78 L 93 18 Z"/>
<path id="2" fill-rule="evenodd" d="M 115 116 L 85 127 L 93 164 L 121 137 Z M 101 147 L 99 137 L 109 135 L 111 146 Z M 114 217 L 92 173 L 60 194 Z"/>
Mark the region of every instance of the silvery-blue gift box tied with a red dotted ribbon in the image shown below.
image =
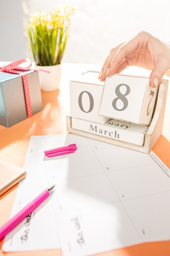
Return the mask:
<path id="1" fill-rule="evenodd" d="M 42 110 L 42 97 L 38 71 L 6 67 L 0 67 L 0 125 L 10 127 Z"/>

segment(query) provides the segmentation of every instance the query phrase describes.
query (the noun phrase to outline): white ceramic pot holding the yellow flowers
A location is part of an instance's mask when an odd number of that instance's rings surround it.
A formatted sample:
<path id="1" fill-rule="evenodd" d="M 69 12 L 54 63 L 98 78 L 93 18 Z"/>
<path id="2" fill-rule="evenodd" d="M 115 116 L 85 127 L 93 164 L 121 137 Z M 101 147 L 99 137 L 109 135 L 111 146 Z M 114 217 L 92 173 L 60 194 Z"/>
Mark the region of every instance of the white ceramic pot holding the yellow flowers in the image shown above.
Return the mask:
<path id="1" fill-rule="evenodd" d="M 61 64 L 53 65 L 53 66 L 38 66 L 35 68 L 37 70 L 50 71 L 50 73 L 39 71 L 39 79 L 40 79 L 40 88 L 43 91 L 55 91 L 60 86 L 61 81 L 61 72 L 62 67 Z"/>

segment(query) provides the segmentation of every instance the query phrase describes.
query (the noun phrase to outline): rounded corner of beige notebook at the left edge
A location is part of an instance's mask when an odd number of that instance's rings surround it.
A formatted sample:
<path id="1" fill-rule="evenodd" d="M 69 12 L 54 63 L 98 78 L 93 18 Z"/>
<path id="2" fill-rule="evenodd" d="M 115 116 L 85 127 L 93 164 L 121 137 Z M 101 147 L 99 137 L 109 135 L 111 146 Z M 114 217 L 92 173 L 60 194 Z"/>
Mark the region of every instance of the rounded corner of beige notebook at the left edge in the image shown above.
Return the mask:
<path id="1" fill-rule="evenodd" d="M 0 196 L 26 177 L 24 169 L 0 160 Z"/>

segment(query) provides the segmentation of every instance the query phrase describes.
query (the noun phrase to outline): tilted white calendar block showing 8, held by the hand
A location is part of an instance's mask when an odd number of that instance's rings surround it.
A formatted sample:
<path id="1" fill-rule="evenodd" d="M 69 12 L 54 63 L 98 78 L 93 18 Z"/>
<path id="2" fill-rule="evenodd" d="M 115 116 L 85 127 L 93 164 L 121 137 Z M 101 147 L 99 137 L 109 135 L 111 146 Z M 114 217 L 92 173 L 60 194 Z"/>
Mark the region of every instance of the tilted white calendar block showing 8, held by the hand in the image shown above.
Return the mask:
<path id="1" fill-rule="evenodd" d="M 135 124 L 150 125 L 158 88 L 149 78 L 114 74 L 105 81 L 99 115 Z"/>

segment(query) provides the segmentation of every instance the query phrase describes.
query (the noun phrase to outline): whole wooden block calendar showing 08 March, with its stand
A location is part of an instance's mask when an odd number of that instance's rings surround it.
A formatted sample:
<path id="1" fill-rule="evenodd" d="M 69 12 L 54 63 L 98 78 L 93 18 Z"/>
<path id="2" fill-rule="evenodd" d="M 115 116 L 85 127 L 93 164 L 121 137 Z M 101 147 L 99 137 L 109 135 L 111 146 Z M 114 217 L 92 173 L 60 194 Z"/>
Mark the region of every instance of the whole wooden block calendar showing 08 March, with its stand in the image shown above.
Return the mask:
<path id="1" fill-rule="evenodd" d="M 70 81 L 67 131 L 149 153 L 162 132 L 168 80 L 151 88 L 148 77 L 115 74 L 105 84 L 97 77 L 89 71 Z"/>

